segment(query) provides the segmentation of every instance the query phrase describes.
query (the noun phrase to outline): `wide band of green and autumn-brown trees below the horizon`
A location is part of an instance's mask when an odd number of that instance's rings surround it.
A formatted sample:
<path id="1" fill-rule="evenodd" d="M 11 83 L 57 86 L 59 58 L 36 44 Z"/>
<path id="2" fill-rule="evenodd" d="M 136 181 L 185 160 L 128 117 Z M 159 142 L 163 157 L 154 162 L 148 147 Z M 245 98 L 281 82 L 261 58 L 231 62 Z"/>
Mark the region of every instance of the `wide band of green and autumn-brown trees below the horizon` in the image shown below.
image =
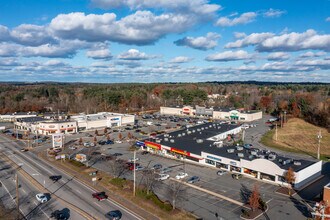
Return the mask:
<path id="1" fill-rule="evenodd" d="M 214 98 L 208 95 L 219 94 Z M 207 82 L 152 84 L 0 84 L 0 112 L 137 112 L 204 105 L 263 110 L 329 128 L 330 86 L 322 83 Z"/>

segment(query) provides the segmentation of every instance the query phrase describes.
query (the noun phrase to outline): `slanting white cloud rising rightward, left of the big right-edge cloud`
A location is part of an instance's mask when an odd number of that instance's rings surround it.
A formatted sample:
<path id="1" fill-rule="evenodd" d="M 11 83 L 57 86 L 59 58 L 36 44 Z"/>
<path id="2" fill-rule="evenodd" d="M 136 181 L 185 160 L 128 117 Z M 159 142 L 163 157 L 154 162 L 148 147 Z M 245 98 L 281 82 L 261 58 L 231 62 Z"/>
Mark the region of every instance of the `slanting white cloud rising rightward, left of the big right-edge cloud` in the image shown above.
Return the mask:
<path id="1" fill-rule="evenodd" d="M 240 48 L 240 47 L 246 47 L 249 45 L 256 45 L 264 40 L 274 36 L 275 34 L 265 32 L 265 33 L 253 33 L 250 34 L 243 39 L 237 40 L 235 42 L 230 42 L 225 45 L 225 48 Z"/>

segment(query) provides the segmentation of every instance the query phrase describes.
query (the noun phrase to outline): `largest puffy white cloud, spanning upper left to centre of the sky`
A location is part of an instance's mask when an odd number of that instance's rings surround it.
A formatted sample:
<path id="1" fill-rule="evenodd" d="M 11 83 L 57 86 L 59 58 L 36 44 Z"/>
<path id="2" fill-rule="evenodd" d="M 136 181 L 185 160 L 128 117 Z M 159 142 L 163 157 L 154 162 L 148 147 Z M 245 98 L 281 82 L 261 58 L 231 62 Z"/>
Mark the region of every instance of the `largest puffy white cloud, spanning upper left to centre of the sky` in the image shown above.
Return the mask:
<path id="1" fill-rule="evenodd" d="M 77 12 L 58 15 L 51 21 L 50 28 L 56 36 L 64 39 L 147 45 L 167 34 L 186 31 L 196 22 L 194 16 L 154 15 L 150 11 L 137 11 L 120 20 L 116 20 L 113 13 L 85 15 Z"/>

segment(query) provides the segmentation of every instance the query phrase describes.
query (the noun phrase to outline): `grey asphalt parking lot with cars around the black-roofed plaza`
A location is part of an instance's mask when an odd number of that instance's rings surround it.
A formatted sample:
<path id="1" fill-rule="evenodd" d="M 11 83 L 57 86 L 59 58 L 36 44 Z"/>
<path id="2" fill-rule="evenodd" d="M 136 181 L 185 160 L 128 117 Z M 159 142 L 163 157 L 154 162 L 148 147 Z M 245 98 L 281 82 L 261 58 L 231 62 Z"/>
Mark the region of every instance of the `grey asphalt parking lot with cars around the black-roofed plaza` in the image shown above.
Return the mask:
<path id="1" fill-rule="evenodd" d="M 246 143 L 257 144 L 257 136 L 265 133 L 269 128 L 265 125 L 265 120 L 262 119 L 257 122 L 253 122 L 254 126 L 248 128 L 245 132 Z M 172 131 L 179 129 L 183 126 L 196 125 L 203 123 L 202 119 L 197 118 L 174 118 L 174 117 L 163 117 L 163 118 L 138 118 L 137 126 L 123 126 L 121 128 L 107 129 L 107 133 L 104 133 L 103 129 L 98 129 L 98 136 L 95 135 L 95 130 L 82 131 L 79 134 L 66 135 L 65 136 L 65 148 L 64 153 L 72 156 L 77 153 L 83 153 L 88 156 L 88 165 L 100 169 L 102 171 L 113 174 L 111 168 L 111 160 L 117 158 L 123 161 L 128 161 L 133 158 L 133 150 L 137 150 L 136 157 L 139 158 L 139 163 L 142 169 L 152 168 L 155 164 L 161 164 L 163 167 L 171 168 L 171 172 L 168 174 L 170 177 L 175 178 L 179 172 L 186 172 L 188 177 L 182 179 L 186 181 L 189 177 L 198 176 L 200 181 L 193 183 L 194 185 L 218 193 L 229 199 L 233 199 L 239 202 L 246 202 L 247 194 L 253 189 L 254 185 L 257 185 L 261 194 L 261 197 L 266 202 L 273 202 L 274 198 L 282 199 L 281 196 L 276 195 L 274 192 L 278 186 L 263 183 L 255 179 L 243 177 L 242 179 L 233 179 L 230 173 L 224 175 L 217 175 L 217 169 L 211 167 L 205 167 L 198 164 L 191 164 L 183 162 L 181 160 L 174 160 L 164 158 L 151 153 L 144 154 L 143 151 L 134 145 L 135 140 L 144 139 L 149 137 L 150 134 L 161 134 L 162 132 Z M 79 140 L 82 139 L 83 143 L 94 143 L 96 136 L 96 146 L 85 147 L 83 144 L 79 144 Z M 240 135 L 234 137 L 236 139 L 241 138 Z M 113 144 L 98 144 L 100 141 L 112 140 Z M 233 141 L 233 140 L 232 140 Z M 50 141 L 40 144 L 38 150 L 45 150 L 50 147 Z M 230 144 L 226 143 L 225 144 Z M 111 160 L 104 160 L 104 157 L 111 155 L 120 155 Z M 103 158 L 103 159 L 102 159 Z M 121 177 L 126 179 L 133 179 L 132 171 L 125 172 Z M 141 183 L 143 177 L 142 171 L 137 171 L 137 183 Z M 164 180 L 157 184 L 154 188 L 156 194 L 164 201 L 171 199 L 168 195 L 168 187 L 173 180 Z M 184 199 L 178 201 L 177 206 L 190 211 L 196 216 L 203 217 L 205 219 L 216 219 L 215 213 L 218 213 L 223 219 L 237 219 L 241 214 L 241 207 L 237 204 L 221 199 L 217 196 L 201 192 L 198 189 L 185 186 Z"/>

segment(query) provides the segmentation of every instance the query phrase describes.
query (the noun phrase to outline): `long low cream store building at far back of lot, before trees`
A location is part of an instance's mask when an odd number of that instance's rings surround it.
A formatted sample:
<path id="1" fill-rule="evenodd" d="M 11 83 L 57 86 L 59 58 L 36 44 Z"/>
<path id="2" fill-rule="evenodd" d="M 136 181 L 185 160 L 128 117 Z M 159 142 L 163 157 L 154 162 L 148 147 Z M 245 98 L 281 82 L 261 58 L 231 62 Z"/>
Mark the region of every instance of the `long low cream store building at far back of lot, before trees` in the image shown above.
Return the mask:
<path id="1" fill-rule="evenodd" d="M 160 107 L 162 115 L 177 115 L 177 116 L 192 116 L 192 117 L 207 117 L 213 119 L 227 119 L 236 121 L 254 121 L 262 118 L 261 111 L 245 111 L 234 108 L 218 108 L 218 107 L 203 107 L 196 105 L 192 106 L 172 106 Z"/>

